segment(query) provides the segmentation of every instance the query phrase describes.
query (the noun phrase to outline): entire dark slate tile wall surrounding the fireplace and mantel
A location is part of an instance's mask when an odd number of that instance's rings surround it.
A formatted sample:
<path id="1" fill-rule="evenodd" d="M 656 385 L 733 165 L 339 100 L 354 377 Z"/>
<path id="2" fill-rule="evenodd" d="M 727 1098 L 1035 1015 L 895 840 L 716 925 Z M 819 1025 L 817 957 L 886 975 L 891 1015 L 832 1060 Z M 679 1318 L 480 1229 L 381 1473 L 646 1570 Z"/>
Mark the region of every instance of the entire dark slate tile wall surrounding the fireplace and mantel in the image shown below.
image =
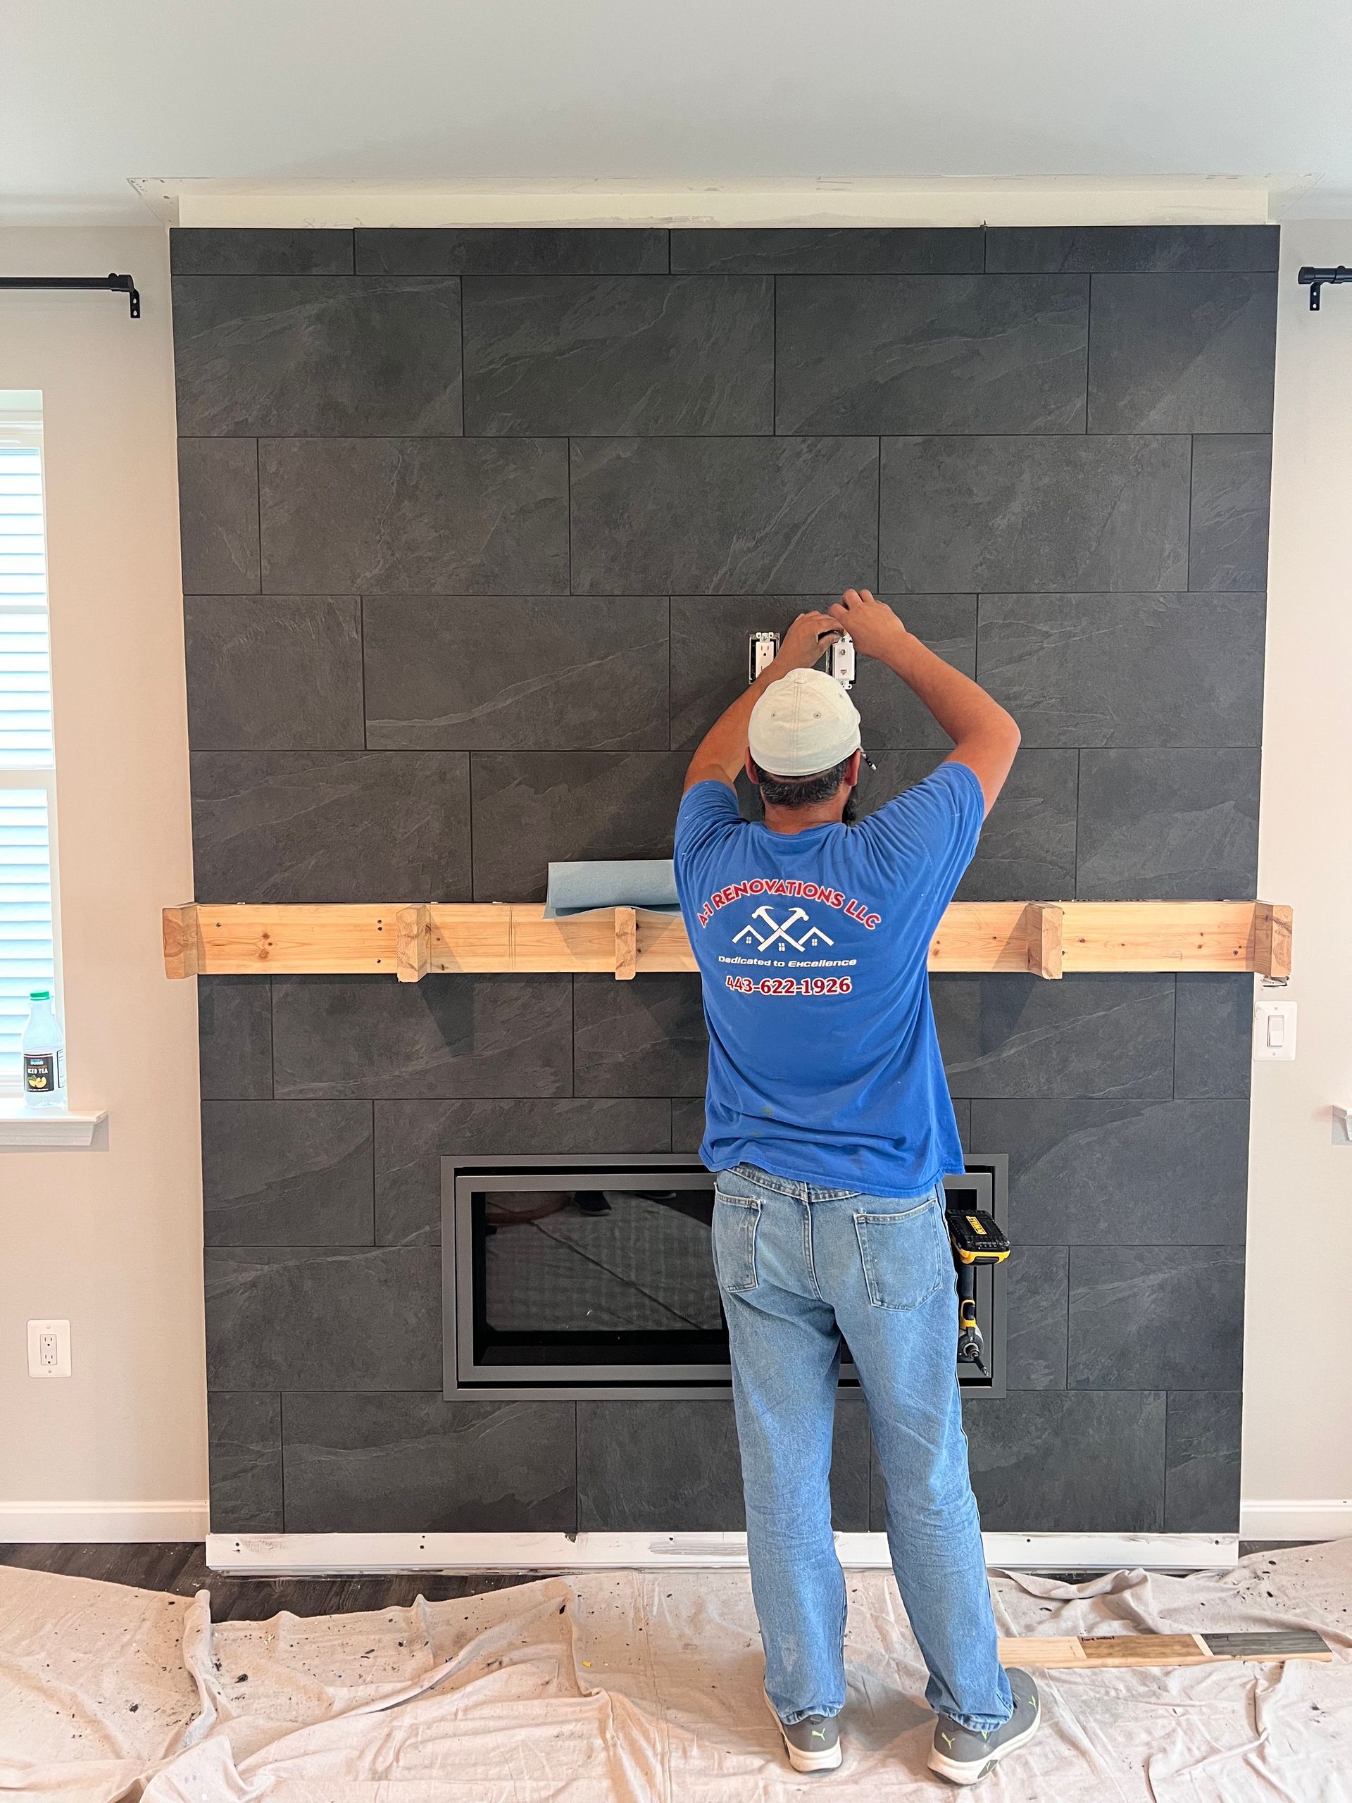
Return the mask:
<path id="1" fill-rule="evenodd" d="M 972 898 L 1253 896 L 1276 233 L 177 231 L 196 892 L 662 856 L 746 635 L 1019 716 Z M 943 734 L 865 665 L 874 806 Z M 934 984 L 1006 1150 L 993 1529 L 1235 1529 L 1249 981 Z M 741 1522 L 726 1403 L 447 1405 L 438 1159 L 687 1150 L 698 984 L 200 981 L 213 1525 Z M 882 1527 L 863 1410 L 842 1527 Z"/>

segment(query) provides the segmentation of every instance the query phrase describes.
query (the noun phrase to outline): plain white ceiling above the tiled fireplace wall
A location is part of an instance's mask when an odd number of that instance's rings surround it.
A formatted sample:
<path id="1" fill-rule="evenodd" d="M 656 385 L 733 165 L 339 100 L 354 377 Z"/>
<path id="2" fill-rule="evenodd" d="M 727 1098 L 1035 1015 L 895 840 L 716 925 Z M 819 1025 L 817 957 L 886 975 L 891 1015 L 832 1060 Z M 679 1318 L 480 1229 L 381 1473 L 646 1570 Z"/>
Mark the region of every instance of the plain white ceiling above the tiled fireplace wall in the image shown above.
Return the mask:
<path id="1" fill-rule="evenodd" d="M 1350 69 L 1348 0 L 0 0 L 0 222 L 142 224 L 137 177 L 1276 173 L 1352 216 Z"/>

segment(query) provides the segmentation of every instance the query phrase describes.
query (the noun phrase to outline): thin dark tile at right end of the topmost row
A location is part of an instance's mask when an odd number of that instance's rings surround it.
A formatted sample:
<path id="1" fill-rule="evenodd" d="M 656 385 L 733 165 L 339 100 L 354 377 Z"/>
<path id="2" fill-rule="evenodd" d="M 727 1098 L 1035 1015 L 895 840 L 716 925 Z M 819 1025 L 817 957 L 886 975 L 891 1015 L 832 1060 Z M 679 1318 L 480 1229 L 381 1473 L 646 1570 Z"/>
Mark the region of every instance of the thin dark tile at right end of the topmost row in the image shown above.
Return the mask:
<path id="1" fill-rule="evenodd" d="M 986 269 L 1274 270 L 1276 225 L 991 225 Z"/>

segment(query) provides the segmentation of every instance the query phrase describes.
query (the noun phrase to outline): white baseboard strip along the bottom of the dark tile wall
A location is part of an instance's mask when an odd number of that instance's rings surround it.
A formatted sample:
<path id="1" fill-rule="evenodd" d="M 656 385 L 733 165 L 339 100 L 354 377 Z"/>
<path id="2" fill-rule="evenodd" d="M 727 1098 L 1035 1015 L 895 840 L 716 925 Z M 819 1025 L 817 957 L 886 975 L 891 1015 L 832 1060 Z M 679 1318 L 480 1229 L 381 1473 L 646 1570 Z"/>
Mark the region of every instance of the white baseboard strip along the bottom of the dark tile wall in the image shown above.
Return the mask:
<path id="1" fill-rule="evenodd" d="M 1233 1534 L 986 1534 L 1000 1570 L 1224 1570 Z M 836 1534 L 851 1570 L 891 1565 L 885 1534 Z M 224 1572 L 575 1572 L 741 1570 L 745 1534 L 207 1534 L 207 1565 Z"/>

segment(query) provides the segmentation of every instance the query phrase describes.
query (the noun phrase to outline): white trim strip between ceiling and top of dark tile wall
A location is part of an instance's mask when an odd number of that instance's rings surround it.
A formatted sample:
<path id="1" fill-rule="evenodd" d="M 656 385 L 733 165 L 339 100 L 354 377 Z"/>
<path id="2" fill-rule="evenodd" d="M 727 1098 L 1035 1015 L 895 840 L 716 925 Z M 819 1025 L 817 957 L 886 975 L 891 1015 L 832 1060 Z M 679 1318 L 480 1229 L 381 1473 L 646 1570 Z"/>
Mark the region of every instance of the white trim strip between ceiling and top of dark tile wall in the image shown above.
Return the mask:
<path id="1" fill-rule="evenodd" d="M 137 177 L 168 225 L 1262 225 L 1312 175 L 636 180 L 229 180 Z"/>

